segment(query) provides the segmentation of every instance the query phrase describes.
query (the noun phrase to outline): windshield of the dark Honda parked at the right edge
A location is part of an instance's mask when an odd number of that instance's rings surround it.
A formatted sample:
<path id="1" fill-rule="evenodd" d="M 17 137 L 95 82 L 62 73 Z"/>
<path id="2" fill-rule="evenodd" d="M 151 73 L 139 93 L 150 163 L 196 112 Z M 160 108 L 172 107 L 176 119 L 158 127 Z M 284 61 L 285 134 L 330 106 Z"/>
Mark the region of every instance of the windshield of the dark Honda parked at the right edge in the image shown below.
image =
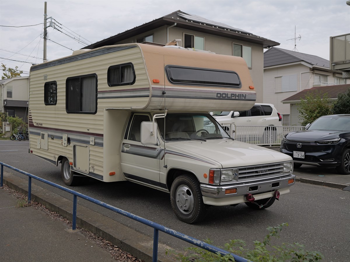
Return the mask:
<path id="1" fill-rule="evenodd" d="M 327 116 L 316 119 L 308 130 L 350 131 L 349 116 Z"/>

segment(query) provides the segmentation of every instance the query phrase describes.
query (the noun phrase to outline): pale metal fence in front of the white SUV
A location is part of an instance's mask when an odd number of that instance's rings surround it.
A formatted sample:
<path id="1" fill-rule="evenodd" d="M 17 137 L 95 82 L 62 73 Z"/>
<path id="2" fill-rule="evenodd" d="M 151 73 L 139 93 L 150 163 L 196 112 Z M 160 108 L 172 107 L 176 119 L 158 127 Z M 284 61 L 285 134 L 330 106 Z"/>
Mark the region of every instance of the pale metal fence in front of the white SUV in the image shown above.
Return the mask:
<path id="1" fill-rule="evenodd" d="M 305 126 L 235 126 L 222 125 L 232 138 L 254 145 L 280 145 L 285 134 L 304 130 Z"/>

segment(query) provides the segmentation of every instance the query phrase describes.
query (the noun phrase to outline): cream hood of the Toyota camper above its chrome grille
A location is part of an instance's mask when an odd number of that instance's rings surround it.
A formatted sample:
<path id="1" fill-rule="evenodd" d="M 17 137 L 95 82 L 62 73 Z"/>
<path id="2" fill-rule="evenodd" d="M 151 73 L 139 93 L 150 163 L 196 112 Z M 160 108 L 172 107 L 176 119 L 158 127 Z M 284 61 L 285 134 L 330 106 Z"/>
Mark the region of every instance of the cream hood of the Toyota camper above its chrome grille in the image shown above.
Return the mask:
<path id="1" fill-rule="evenodd" d="M 292 160 L 286 154 L 230 139 L 167 143 L 167 148 L 197 158 L 214 160 L 223 168 L 262 165 Z M 176 148 L 178 148 L 176 150 Z"/>

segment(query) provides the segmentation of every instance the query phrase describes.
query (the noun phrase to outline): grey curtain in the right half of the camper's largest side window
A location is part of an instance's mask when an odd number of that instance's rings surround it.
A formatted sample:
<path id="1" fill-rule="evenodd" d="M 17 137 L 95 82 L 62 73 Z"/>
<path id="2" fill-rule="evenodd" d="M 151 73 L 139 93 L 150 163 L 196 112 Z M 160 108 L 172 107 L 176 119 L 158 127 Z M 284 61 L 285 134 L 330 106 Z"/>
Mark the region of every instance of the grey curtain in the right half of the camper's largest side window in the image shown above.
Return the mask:
<path id="1" fill-rule="evenodd" d="M 96 77 L 82 78 L 82 112 L 96 111 Z"/>

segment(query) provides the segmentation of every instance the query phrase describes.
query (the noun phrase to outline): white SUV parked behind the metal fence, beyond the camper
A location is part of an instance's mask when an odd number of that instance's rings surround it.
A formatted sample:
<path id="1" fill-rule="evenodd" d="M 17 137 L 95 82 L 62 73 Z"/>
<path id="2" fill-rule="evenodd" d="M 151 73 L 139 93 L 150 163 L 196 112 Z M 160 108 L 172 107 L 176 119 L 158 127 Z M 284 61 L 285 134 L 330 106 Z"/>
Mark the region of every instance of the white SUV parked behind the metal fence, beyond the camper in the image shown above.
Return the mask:
<path id="1" fill-rule="evenodd" d="M 259 139 L 261 144 L 274 143 L 277 130 L 273 126 L 282 126 L 282 117 L 273 104 L 255 103 L 247 111 L 214 111 L 211 114 L 219 124 L 226 125 L 226 131 L 229 131 L 227 126 L 229 124 L 246 126 L 247 128 L 242 130 L 244 134 L 239 134 L 239 138 L 244 138 L 244 141 Z M 253 128 L 253 126 L 266 127 Z"/>

